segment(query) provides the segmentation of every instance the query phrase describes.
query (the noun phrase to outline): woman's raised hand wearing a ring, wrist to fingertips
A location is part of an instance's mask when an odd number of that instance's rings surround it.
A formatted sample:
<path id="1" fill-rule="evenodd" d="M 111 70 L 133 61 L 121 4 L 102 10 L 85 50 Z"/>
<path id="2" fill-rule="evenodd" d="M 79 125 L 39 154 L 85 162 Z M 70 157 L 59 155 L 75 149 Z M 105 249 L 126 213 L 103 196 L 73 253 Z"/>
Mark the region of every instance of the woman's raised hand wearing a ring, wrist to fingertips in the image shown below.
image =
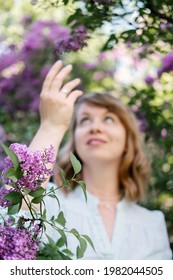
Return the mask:
<path id="1" fill-rule="evenodd" d="M 82 91 L 75 90 L 80 84 L 80 79 L 64 84 L 71 70 L 71 65 L 62 67 L 62 62 L 57 61 L 46 76 L 40 95 L 40 117 L 44 127 L 62 127 L 65 130 L 69 127 L 74 103 L 82 95 Z"/>

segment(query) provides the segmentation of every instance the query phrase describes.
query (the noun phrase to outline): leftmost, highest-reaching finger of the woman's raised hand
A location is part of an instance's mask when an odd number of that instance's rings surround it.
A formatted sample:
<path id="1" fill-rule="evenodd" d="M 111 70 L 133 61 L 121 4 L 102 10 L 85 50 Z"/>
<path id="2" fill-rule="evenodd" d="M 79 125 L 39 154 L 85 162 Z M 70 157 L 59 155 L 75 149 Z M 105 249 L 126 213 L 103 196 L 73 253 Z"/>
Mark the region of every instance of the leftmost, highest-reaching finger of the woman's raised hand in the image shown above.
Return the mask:
<path id="1" fill-rule="evenodd" d="M 62 61 L 58 60 L 49 70 L 46 79 L 43 83 L 43 92 L 47 92 L 49 91 L 51 84 L 53 82 L 53 80 L 55 79 L 57 73 L 60 71 L 60 69 L 62 68 Z"/>

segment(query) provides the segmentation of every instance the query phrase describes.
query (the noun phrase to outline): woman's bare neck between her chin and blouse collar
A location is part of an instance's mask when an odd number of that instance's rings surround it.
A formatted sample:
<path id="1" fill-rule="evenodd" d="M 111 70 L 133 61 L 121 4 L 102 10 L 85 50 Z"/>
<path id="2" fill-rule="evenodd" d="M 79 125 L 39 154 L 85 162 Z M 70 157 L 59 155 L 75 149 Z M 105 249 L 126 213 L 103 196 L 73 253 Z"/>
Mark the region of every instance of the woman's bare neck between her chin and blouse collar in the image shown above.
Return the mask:
<path id="1" fill-rule="evenodd" d="M 115 164 L 95 167 L 83 166 L 83 180 L 87 191 L 99 199 L 114 200 L 120 197 L 118 168 Z"/>

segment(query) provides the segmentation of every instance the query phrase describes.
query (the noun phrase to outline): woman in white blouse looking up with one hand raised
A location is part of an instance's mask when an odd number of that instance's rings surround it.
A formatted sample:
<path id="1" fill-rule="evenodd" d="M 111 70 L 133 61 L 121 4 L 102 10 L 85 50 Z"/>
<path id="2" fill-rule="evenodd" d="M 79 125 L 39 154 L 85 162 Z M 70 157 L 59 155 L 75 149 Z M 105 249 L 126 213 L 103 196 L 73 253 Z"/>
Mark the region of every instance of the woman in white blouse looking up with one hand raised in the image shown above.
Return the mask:
<path id="1" fill-rule="evenodd" d="M 81 96 L 75 90 L 79 79 L 64 84 L 71 70 L 58 61 L 48 73 L 41 92 L 41 124 L 30 145 L 41 149 L 52 144 L 58 153 L 71 123 L 71 138 L 58 165 L 68 177 L 69 152 L 76 154 L 88 201 L 79 186 L 67 195 L 58 192 L 67 227 L 91 237 L 96 251 L 88 246 L 84 259 L 171 259 L 163 214 L 137 204 L 145 193 L 149 164 L 134 116 L 109 94 Z M 50 216 L 59 211 L 51 199 L 46 203 Z M 68 248 L 74 251 L 76 246 L 69 236 Z"/>

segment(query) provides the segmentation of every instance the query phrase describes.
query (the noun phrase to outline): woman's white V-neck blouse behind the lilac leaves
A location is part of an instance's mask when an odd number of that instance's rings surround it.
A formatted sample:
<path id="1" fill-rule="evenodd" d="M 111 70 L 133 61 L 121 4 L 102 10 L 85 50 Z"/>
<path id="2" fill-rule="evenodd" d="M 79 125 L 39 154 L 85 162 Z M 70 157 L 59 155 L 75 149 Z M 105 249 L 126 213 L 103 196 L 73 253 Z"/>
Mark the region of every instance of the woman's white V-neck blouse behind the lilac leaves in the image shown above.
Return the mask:
<path id="1" fill-rule="evenodd" d="M 49 187 L 53 184 L 49 183 Z M 57 191 L 61 210 L 67 220 L 66 227 L 75 228 L 80 234 L 87 234 L 93 241 L 95 251 L 88 244 L 83 259 L 100 260 L 170 260 L 164 215 L 161 211 L 150 211 L 136 203 L 122 199 L 117 204 L 112 240 L 108 238 L 98 211 L 98 199 L 87 193 L 87 202 L 81 187 L 77 187 L 67 197 Z M 49 217 L 56 216 L 59 206 L 55 199 L 46 199 Z M 47 233 L 57 240 L 57 232 L 47 228 Z M 68 249 L 75 252 L 79 245 L 72 234 L 68 234 Z"/>

